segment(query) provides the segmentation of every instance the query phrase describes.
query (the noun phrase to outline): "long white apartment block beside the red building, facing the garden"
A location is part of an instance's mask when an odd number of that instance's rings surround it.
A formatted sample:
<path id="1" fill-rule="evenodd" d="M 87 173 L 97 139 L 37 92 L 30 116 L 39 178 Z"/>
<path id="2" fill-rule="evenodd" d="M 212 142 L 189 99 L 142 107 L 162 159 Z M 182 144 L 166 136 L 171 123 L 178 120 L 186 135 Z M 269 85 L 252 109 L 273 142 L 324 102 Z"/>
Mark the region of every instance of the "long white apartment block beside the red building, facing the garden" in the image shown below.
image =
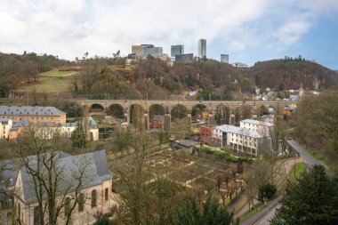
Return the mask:
<path id="1" fill-rule="evenodd" d="M 271 139 L 254 130 L 234 125 L 219 125 L 213 128 L 213 140 L 219 146 L 229 146 L 254 156 L 262 155 L 265 149 L 271 148 Z"/>

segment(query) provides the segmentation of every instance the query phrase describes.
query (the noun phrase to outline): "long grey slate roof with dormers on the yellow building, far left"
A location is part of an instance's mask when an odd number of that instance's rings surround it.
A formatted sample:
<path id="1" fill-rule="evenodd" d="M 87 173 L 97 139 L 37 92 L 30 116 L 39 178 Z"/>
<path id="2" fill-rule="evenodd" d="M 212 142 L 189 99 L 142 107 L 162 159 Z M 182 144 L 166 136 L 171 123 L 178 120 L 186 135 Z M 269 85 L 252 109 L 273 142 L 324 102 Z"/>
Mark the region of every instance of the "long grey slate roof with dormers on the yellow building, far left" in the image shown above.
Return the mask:
<path id="1" fill-rule="evenodd" d="M 55 107 L 0 106 L 1 116 L 62 116 L 65 114 Z"/>

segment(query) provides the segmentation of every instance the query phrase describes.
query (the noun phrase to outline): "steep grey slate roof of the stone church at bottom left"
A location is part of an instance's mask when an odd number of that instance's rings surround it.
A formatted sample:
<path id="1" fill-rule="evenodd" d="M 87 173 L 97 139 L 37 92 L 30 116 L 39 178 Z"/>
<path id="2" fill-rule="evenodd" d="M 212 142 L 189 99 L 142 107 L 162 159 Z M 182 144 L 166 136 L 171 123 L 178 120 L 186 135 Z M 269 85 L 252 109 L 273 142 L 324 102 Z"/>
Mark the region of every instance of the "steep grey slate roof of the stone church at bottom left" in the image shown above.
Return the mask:
<path id="1" fill-rule="evenodd" d="M 82 189 L 101 184 L 103 181 L 109 181 L 112 175 L 109 170 L 105 150 L 95 151 L 78 156 L 70 156 L 67 153 L 59 152 L 58 168 L 62 171 L 62 181 L 59 181 L 58 192 L 60 195 L 66 193 L 70 185 L 76 187 L 78 172 L 84 168 L 84 177 L 82 179 Z M 36 166 L 36 156 L 29 157 L 30 166 Z M 22 178 L 23 200 L 25 204 L 36 202 L 36 194 L 33 185 L 32 176 L 27 173 L 25 167 L 20 169 Z M 68 190 L 68 193 L 71 192 Z"/>

